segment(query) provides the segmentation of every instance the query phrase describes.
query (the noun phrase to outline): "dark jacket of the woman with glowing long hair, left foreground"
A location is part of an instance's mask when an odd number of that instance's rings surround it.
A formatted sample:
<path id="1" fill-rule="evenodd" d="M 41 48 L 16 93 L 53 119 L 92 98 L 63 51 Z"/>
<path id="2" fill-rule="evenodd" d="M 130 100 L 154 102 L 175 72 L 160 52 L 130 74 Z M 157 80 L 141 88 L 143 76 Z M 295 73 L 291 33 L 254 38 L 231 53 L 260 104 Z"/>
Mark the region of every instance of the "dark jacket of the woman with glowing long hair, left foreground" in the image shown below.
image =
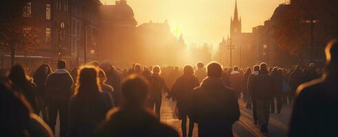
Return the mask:
<path id="1" fill-rule="evenodd" d="M 112 108 L 112 98 L 108 92 L 101 92 L 92 100 L 72 97 L 69 136 L 94 136 L 94 130 Z"/>

